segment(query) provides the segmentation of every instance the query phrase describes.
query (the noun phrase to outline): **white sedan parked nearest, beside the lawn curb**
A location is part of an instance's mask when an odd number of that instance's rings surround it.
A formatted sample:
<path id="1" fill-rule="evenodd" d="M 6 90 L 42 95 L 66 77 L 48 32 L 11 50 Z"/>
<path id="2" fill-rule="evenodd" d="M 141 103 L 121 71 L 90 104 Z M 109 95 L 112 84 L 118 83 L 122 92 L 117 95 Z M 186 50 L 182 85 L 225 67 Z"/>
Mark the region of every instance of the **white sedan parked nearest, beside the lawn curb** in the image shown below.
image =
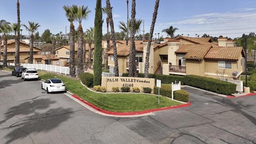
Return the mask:
<path id="1" fill-rule="evenodd" d="M 46 90 L 47 94 L 50 92 L 65 92 L 65 84 L 58 78 L 47 79 L 42 82 L 42 89 Z"/>

